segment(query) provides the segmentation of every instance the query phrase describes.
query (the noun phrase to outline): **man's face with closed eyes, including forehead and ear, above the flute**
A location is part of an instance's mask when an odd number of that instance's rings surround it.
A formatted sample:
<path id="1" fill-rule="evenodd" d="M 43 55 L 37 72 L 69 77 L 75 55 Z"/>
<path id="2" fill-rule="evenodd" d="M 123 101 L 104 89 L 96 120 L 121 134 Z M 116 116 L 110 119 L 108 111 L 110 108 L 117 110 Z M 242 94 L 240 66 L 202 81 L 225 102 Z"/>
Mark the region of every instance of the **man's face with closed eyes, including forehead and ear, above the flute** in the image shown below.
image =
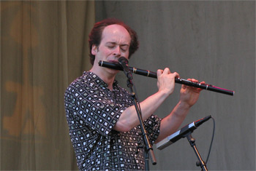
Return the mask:
<path id="1" fill-rule="evenodd" d="M 119 57 L 129 57 L 131 36 L 121 25 L 108 25 L 102 31 L 102 40 L 98 47 L 93 45 L 91 54 L 95 55 L 94 65 L 99 60 L 118 63 Z"/>

